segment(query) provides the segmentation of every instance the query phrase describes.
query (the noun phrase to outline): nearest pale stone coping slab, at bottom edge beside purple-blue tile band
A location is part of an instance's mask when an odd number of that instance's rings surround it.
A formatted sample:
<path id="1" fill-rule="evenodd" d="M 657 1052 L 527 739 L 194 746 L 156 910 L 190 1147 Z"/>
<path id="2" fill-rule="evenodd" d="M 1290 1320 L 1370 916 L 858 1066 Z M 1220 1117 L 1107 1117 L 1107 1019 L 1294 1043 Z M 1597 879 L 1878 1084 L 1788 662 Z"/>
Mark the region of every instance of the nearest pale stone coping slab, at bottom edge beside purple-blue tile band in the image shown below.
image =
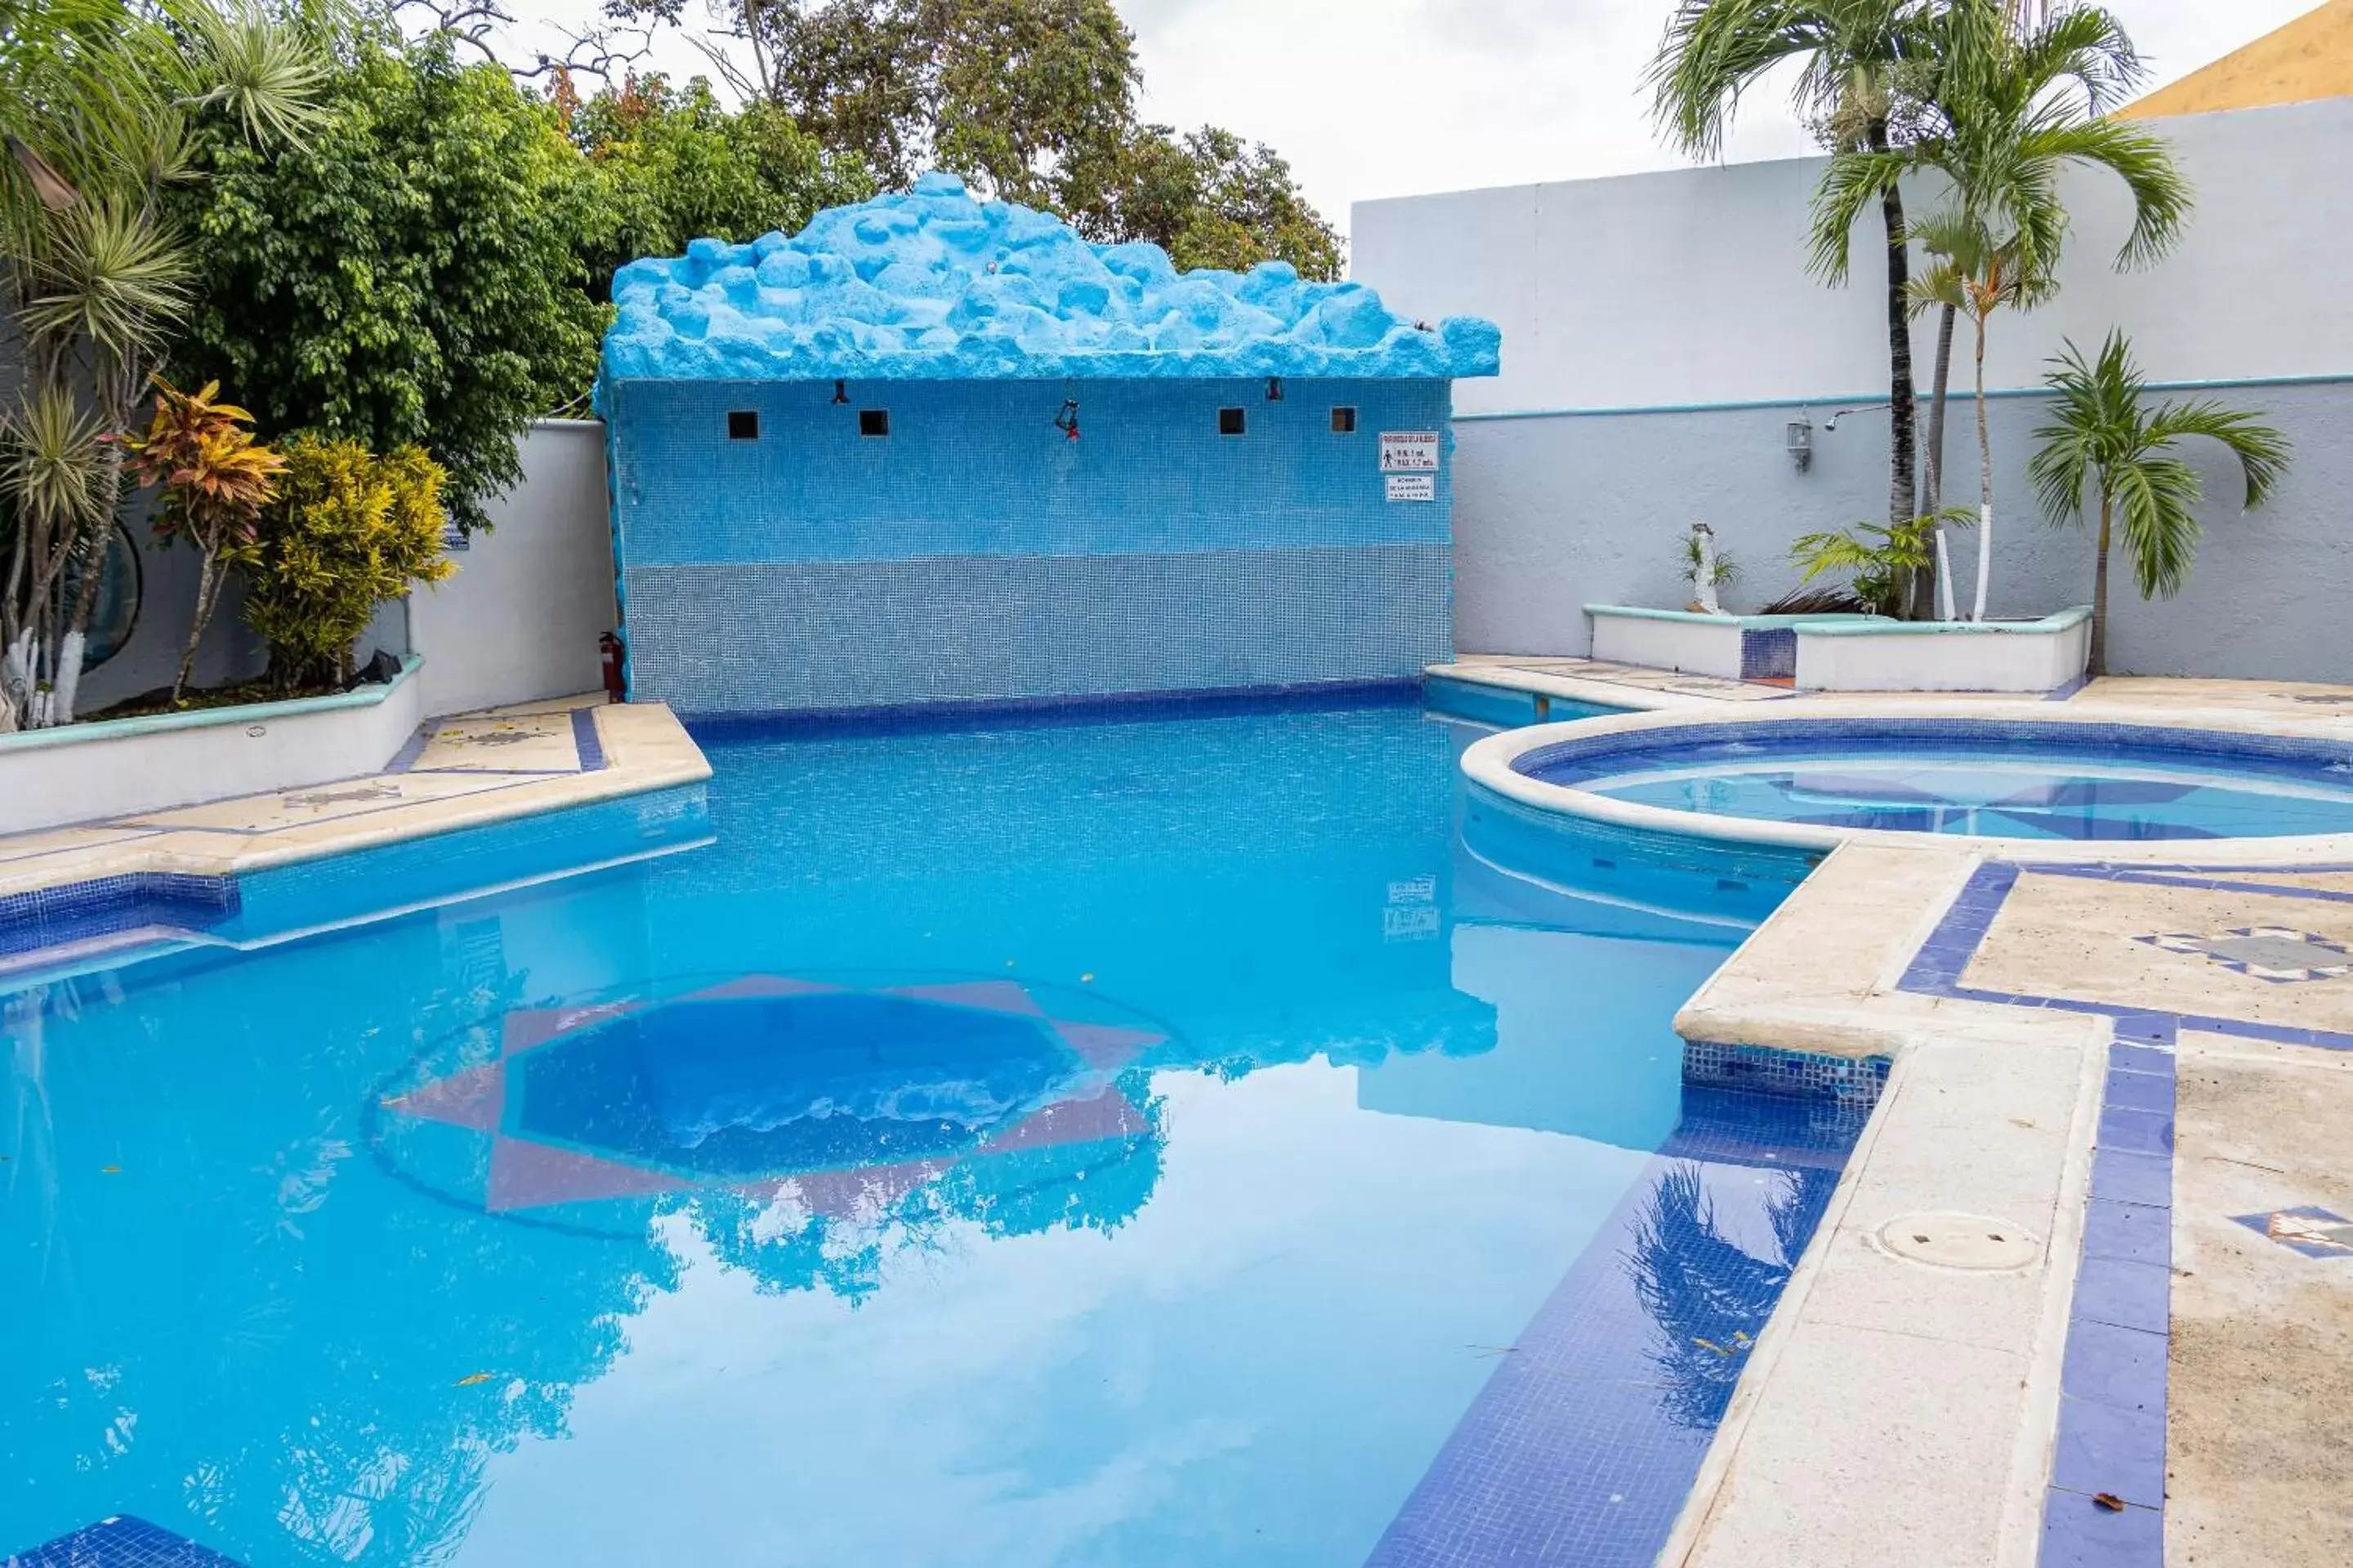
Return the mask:
<path id="1" fill-rule="evenodd" d="M 1977 1345 L 1828 1324 L 1793 1335 L 1682 1561 L 1986 1568 L 2024 1380 L 2024 1356 Z"/>

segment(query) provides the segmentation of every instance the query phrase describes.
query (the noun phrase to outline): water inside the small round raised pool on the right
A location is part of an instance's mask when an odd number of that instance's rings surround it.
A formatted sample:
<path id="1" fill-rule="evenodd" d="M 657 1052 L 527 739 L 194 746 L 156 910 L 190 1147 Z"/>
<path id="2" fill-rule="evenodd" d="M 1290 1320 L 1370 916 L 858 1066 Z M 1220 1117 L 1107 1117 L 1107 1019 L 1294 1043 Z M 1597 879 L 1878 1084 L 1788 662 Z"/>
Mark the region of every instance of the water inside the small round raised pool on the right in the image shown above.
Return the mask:
<path id="1" fill-rule="evenodd" d="M 1546 745 L 1520 773 L 1814 827 L 2019 839 L 2353 832 L 2353 745 L 2125 724 L 1793 719 Z"/>

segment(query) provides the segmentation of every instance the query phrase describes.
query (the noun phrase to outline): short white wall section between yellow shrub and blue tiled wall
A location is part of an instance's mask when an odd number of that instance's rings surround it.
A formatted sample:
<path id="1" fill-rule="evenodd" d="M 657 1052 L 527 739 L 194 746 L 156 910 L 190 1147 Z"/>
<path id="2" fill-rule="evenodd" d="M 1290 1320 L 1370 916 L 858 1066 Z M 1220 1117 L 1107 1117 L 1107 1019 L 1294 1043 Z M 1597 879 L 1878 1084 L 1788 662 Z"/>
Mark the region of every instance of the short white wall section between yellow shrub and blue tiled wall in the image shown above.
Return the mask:
<path id="1" fill-rule="evenodd" d="M 428 715 L 532 703 L 602 684 L 614 628 L 605 425 L 534 421 L 522 482 L 489 503 L 489 534 L 452 555 L 456 576 L 407 599 Z"/>

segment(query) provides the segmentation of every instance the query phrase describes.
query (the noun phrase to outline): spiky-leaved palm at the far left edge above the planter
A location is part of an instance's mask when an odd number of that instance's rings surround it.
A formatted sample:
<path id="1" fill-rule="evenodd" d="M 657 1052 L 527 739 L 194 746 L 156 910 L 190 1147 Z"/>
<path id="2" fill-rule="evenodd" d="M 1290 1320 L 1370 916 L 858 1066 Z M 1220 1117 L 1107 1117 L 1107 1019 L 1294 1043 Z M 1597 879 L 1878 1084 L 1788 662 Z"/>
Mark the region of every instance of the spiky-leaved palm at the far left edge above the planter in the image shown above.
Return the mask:
<path id="1" fill-rule="evenodd" d="M 282 141 L 318 115 L 320 80 L 315 49 L 256 0 L 0 0 L 0 308 L 28 383 L 0 421 L 0 729 L 73 717 L 120 437 L 193 303 L 188 242 L 160 207 L 188 179 L 188 110 L 216 103 Z M 35 482 L 66 484 L 71 505 Z"/>

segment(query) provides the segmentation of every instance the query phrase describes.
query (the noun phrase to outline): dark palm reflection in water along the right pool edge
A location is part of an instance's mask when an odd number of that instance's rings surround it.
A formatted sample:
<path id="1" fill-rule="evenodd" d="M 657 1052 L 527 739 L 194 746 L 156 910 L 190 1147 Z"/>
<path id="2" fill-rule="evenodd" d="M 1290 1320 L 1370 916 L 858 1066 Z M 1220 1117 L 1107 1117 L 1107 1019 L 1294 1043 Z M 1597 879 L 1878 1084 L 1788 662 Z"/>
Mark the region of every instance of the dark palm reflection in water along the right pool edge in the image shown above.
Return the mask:
<path id="1" fill-rule="evenodd" d="M 1779 1192 L 1765 1204 L 1772 1258 L 1734 1246 L 1718 1229 L 1699 1161 L 1668 1166 L 1635 1218 L 1626 1272 L 1659 1326 L 1652 1361 L 1666 1380 L 1666 1413 L 1682 1427 L 1711 1432 L 1722 1420 L 1748 1347 L 1831 1204 L 1838 1171 L 1777 1171 L 1774 1180 Z"/>

